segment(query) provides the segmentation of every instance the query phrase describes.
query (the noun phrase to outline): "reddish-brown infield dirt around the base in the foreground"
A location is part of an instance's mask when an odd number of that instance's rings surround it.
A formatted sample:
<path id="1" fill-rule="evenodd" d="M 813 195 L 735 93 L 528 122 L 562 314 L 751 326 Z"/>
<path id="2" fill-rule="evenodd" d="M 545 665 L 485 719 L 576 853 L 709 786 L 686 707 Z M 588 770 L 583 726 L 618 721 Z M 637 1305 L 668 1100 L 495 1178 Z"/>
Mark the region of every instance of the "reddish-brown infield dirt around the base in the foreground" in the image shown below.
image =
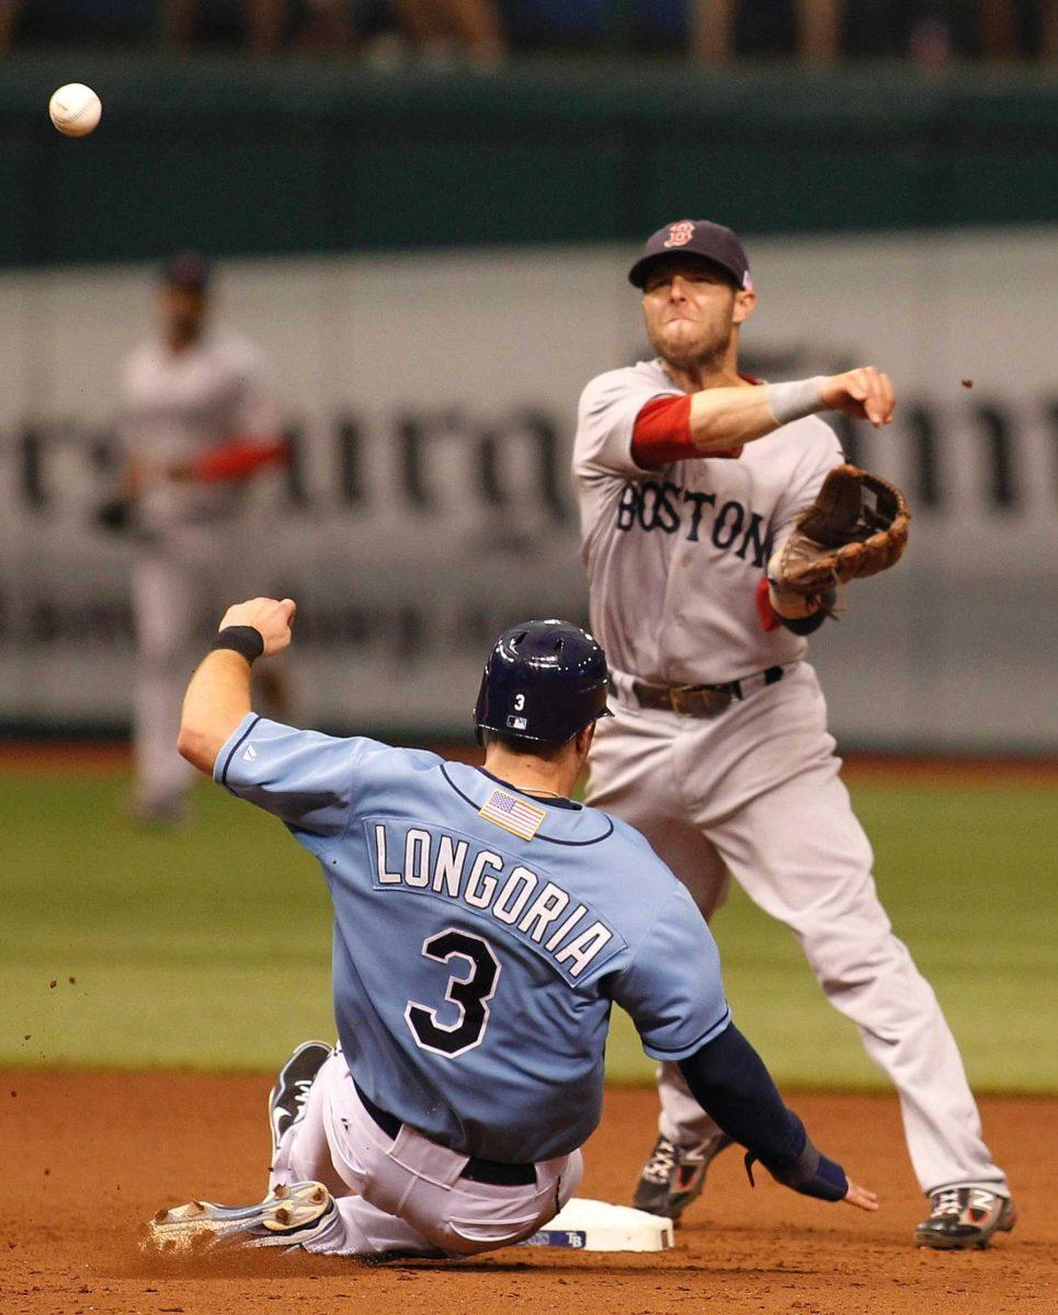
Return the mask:
<path id="1" fill-rule="evenodd" d="M 729 1151 L 661 1256 L 508 1249 L 458 1264 L 368 1268 L 304 1255 L 163 1261 L 139 1248 L 161 1206 L 263 1191 L 266 1076 L 8 1070 L 0 1076 L 0 1310 L 4 1315 L 1001 1315 L 1058 1311 L 1058 1101 L 983 1102 L 1019 1227 L 986 1252 L 916 1251 L 922 1198 L 896 1101 L 801 1095 L 817 1141 L 883 1197 L 878 1215 L 796 1197 Z M 582 1195 L 622 1202 L 653 1139 L 654 1094 L 611 1090 Z"/>

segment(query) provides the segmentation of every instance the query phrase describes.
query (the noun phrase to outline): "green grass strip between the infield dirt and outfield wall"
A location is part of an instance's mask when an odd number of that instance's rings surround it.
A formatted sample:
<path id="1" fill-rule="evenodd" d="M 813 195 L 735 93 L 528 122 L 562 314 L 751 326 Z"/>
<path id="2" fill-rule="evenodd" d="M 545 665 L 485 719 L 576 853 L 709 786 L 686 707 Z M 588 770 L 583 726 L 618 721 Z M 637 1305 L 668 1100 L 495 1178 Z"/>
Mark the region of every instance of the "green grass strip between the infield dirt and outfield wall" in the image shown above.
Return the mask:
<path id="1" fill-rule="evenodd" d="M 330 1036 L 328 899 L 312 859 L 208 786 L 192 826 L 136 830 L 120 819 L 124 789 L 0 778 L 0 1063 L 267 1069 L 305 1036 Z M 865 786 L 854 798 L 882 898 L 971 1078 L 1058 1090 L 1053 796 Z M 715 930 L 736 1018 L 780 1081 L 880 1084 L 784 927 L 736 890 Z M 650 1077 L 625 1018 L 609 1061 L 618 1080 Z"/>

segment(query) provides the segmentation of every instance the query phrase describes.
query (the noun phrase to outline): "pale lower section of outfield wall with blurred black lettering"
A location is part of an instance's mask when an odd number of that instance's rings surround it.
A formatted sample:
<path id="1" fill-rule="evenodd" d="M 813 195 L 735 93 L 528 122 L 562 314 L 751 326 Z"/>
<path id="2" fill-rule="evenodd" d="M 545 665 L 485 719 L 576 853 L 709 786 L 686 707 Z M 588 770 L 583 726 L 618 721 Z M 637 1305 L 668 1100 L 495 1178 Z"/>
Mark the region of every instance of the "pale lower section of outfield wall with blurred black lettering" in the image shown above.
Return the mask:
<path id="1" fill-rule="evenodd" d="M 1050 229 L 753 242 L 749 368 L 797 377 L 875 359 L 904 397 L 892 429 L 844 429 L 850 455 L 915 508 L 900 569 L 850 589 L 813 643 L 846 747 L 1058 743 L 1054 245 Z M 232 596 L 291 593 L 304 721 L 465 734 L 491 636 L 522 615 L 584 614 L 568 452 L 584 381 L 645 351 L 632 251 L 224 263 L 222 318 L 270 358 L 297 459 L 247 500 L 204 635 Z M 8 727 L 128 719 L 134 548 L 92 515 L 114 477 L 117 375 L 149 325 L 151 275 L 3 281 Z M 746 517 L 716 509 L 701 533 L 738 551 Z"/>

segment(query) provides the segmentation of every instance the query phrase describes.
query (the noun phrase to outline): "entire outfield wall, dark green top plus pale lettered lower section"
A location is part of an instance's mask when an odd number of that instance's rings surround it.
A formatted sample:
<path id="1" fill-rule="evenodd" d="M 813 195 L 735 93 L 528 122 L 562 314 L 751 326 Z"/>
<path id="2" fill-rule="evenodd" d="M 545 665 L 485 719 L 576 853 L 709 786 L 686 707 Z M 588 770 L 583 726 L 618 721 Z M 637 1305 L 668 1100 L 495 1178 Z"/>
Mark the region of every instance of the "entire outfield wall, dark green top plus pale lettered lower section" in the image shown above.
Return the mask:
<path id="1" fill-rule="evenodd" d="M 0 64 L 0 723 L 128 721 L 132 547 L 92 513 L 150 262 L 222 258 L 297 452 L 204 626 L 291 592 L 305 719 L 450 734 L 495 630 L 583 614 L 576 396 L 643 351 L 633 243 L 708 213 L 753 239 L 751 368 L 870 358 L 903 391 L 894 430 L 844 431 L 916 515 L 900 571 L 815 643 L 842 740 L 1054 751 L 1053 78 L 76 63 L 105 107 L 87 141 L 43 112 L 68 57 Z"/>

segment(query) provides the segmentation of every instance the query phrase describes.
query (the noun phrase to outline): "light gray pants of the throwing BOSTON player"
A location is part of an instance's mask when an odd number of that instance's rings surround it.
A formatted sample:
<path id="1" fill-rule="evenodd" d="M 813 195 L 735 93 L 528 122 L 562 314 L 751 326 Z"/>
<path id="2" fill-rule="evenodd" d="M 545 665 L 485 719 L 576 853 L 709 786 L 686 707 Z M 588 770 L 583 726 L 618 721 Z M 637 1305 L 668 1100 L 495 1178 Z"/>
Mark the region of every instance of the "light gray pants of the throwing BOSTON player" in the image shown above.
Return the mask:
<path id="1" fill-rule="evenodd" d="M 597 723 L 588 802 L 637 827 L 708 919 L 728 873 L 797 936 L 830 1003 L 850 1018 L 900 1095 L 924 1191 L 1007 1191 L 937 997 L 892 934 L 807 663 L 715 718 L 640 709 L 617 673 Z M 751 1040 L 751 1038 L 750 1038 Z M 690 1145 L 716 1130 L 679 1069 L 659 1072 L 661 1131 Z"/>

